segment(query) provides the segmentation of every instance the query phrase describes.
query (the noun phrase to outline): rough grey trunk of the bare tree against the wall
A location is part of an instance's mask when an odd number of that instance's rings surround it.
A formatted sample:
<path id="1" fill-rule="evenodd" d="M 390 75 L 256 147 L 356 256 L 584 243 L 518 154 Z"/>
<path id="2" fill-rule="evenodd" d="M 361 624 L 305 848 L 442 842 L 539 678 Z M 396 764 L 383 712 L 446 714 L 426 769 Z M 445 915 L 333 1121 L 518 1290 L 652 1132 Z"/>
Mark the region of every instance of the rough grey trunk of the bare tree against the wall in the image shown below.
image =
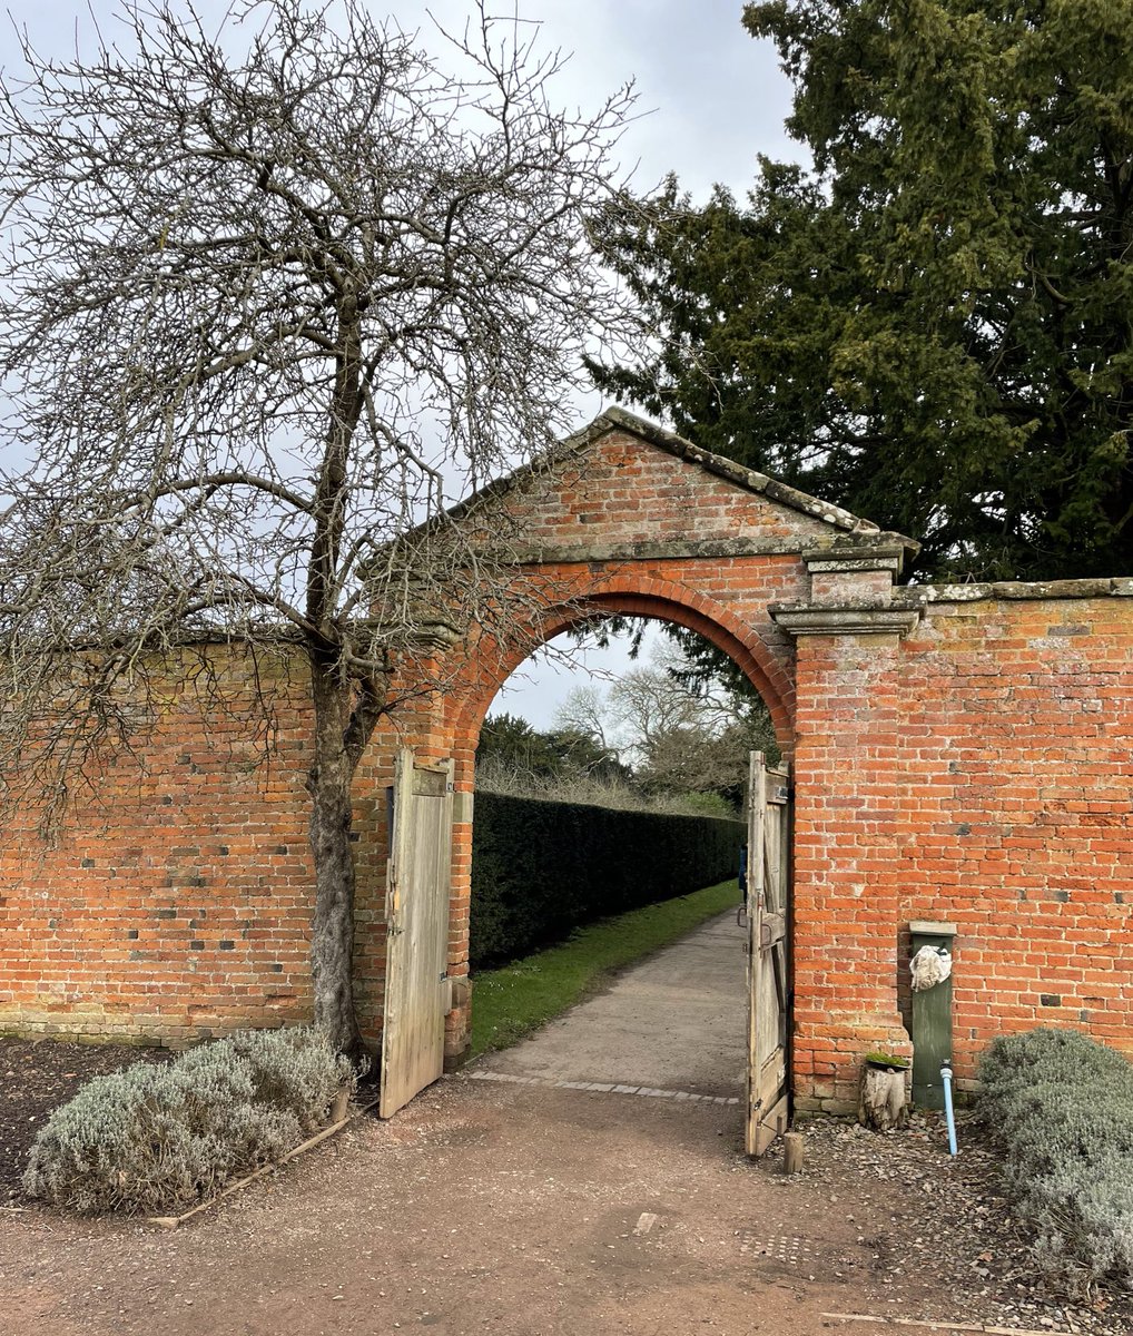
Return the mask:
<path id="1" fill-rule="evenodd" d="M 358 1057 L 362 1038 L 354 1014 L 354 846 L 350 788 L 355 762 L 345 737 L 350 689 L 311 653 L 315 754 L 307 779 L 310 840 L 315 867 L 311 927 L 314 1021 L 339 1051 Z"/>

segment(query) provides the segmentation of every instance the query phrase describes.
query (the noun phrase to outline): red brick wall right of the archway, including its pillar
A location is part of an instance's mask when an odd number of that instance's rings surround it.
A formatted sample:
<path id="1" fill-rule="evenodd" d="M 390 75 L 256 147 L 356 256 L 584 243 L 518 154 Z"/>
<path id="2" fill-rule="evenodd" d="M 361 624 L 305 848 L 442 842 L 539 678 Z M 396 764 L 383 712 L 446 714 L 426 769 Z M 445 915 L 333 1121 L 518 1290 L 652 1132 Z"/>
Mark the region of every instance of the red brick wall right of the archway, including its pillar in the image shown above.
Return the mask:
<path id="1" fill-rule="evenodd" d="M 902 1050 L 915 919 L 958 929 L 961 1086 L 1035 1025 L 1133 1054 L 1133 599 L 930 601 L 906 640 L 800 637 L 796 692 L 807 1102 Z"/>

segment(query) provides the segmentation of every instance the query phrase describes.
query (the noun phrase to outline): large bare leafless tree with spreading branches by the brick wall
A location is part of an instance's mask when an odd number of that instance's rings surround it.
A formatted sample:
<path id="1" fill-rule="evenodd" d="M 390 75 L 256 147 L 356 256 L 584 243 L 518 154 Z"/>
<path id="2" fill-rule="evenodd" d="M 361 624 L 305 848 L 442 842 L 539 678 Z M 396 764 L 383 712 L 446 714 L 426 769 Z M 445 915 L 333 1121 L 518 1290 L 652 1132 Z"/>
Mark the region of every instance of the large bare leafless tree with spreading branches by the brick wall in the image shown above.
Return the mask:
<path id="1" fill-rule="evenodd" d="M 298 647 L 315 1018 L 351 1049 L 355 768 L 398 663 L 505 604 L 446 505 L 625 334 L 588 216 L 632 99 L 557 112 L 558 55 L 482 8 L 444 63 L 335 12 L 127 0 L 0 87 L 0 775 L 61 798 L 143 745 L 155 655 Z"/>

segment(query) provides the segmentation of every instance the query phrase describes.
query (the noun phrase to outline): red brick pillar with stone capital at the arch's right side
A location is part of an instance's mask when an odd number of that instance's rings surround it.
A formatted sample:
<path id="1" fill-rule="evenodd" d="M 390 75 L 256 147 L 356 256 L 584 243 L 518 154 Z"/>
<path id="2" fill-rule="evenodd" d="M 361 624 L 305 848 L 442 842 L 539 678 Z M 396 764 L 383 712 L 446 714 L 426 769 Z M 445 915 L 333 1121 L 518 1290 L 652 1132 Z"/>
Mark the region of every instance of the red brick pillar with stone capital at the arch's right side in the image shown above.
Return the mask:
<path id="1" fill-rule="evenodd" d="M 799 1109 L 856 1108 L 860 1059 L 911 1054 L 898 1013 L 901 856 L 894 774 L 899 554 L 812 560 L 811 600 L 771 609 L 796 637 L 795 1042 Z M 895 597 L 897 596 L 897 597 Z"/>

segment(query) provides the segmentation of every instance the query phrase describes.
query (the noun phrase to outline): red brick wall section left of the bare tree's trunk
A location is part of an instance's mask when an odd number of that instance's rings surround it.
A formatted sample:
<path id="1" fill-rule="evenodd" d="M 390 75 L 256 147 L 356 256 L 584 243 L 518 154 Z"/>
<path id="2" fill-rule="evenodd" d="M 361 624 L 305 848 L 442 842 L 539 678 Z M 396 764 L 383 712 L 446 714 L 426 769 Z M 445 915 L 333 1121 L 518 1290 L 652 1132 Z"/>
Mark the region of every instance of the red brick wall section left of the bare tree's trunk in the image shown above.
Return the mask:
<path id="1" fill-rule="evenodd" d="M 226 659 L 230 713 L 206 717 L 199 663 L 171 665 L 144 768 L 76 788 L 55 844 L 28 810 L 4 832 L 0 1029 L 180 1042 L 307 1015 L 302 679 L 261 661 L 275 727 L 258 739 L 253 665 Z"/>

